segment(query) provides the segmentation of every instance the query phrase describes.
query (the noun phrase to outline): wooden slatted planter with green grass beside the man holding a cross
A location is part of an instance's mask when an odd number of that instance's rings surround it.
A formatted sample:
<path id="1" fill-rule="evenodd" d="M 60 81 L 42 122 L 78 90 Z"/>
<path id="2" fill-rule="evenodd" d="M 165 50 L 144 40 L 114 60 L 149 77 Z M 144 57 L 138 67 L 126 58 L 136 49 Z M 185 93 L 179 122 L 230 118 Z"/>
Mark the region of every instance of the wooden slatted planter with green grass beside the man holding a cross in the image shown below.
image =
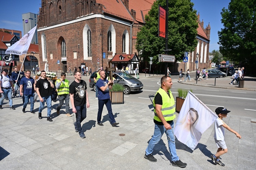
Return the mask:
<path id="1" fill-rule="evenodd" d="M 110 100 L 112 104 L 124 104 L 124 89 L 122 84 L 115 83 L 109 90 Z"/>

